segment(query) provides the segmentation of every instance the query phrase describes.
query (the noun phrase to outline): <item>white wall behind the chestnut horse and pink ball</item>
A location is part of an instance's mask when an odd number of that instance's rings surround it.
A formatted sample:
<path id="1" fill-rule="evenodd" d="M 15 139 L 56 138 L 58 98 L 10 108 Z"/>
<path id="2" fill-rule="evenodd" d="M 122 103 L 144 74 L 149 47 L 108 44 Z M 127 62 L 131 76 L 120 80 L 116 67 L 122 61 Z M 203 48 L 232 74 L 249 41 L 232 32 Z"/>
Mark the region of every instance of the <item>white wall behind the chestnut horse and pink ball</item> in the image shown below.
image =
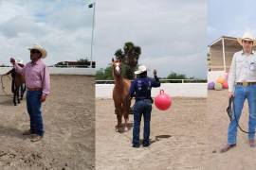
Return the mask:
<path id="1" fill-rule="evenodd" d="M 114 84 L 96 84 L 96 98 L 110 99 Z M 207 83 L 162 83 L 160 88 L 152 89 L 152 96 L 156 96 L 159 90 L 174 96 L 207 97 Z"/>

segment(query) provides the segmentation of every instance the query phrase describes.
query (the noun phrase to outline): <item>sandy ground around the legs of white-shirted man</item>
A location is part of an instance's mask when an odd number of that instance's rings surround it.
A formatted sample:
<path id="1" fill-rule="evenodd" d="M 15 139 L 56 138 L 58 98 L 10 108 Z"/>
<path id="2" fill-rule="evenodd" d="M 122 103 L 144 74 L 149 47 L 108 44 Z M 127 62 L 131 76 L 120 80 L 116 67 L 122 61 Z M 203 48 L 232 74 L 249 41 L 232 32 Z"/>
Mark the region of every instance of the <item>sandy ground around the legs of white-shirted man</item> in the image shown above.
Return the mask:
<path id="1" fill-rule="evenodd" d="M 250 148 L 247 134 L 238 130 L 237 146 L 229 152 L 219 153 L 221 147 L 227 144 L 229 117 L 226 113 L 228 107 L 228 91 L 209 91 L 208 94 L 208 122 L 210 123 L 209 139 L 210 159 L 208 165 L 210 170 L 255 170 L 256 148 Z M 240 125 L 247 130 L 248 109 L 247 102 L 240 119 Z M 212 153 L 216 151 L 216 153 Z"/>

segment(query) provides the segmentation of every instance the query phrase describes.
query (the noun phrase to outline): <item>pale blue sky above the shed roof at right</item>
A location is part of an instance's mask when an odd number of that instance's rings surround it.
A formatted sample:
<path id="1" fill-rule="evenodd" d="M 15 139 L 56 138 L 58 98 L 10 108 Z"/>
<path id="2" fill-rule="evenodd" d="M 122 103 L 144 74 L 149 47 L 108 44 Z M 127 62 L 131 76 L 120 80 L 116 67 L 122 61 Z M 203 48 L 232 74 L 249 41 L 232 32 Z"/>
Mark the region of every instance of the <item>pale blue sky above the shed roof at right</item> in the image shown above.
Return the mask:
<path id="1" fill-rule="evenodd" d="M 221 36 L 242 37 L 246 30 L 256 35 L 255 0 L 209 0 L 208 44 Z"/>

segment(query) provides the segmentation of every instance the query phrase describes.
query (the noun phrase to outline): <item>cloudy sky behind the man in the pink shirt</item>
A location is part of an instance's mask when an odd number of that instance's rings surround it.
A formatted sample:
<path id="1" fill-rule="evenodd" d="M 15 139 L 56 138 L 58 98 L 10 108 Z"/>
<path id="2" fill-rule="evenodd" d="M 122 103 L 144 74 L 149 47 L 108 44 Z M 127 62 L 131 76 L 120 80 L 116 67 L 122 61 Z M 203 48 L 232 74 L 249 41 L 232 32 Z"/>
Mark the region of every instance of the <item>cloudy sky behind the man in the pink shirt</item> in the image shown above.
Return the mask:
<path id="1" fill-rule="evenodd" d="M 48 65 L 90 59 L 92 8 L 84 0 L 0 0 L 0 64 L 29 60 L 27 47 L 41 44 Z"/>

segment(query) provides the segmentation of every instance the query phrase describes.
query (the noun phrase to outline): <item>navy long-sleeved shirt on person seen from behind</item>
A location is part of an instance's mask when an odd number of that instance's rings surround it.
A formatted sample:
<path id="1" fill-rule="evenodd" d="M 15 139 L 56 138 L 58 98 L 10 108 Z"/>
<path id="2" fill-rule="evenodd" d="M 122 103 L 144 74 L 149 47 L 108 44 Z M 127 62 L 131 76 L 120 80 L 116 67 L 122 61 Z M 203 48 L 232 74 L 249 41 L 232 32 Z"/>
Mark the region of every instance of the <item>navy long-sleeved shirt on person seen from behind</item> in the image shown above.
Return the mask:
<path id="1" fill-rule="evenodd" d="M 136 101 L 142 99 L 151 99 L 152 87 L 160 87 L 160 81 L 157 76 L 150 78 L 148 76 L 136 78 L 130 87 L 130 96 L 136 97 Z"/>

